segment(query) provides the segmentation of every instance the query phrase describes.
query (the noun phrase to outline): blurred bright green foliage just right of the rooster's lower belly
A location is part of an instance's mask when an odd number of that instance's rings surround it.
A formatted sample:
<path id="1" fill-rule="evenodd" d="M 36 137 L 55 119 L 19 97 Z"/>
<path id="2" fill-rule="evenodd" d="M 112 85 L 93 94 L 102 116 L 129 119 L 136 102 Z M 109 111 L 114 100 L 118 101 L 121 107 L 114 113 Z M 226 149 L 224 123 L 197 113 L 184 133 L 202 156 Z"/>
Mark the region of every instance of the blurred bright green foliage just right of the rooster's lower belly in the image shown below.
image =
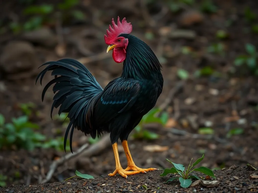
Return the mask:
<path id="1" fill-rule="evenodd" d="M 168 114 L 166 112 L 162 113 L 160 117 L 156 117 L 156 113 L 160 110 L 157 108 L 151 109 L 146 115 L 144 115 L 140 123 L 134 128 L 135 133 L 133 138 L 135 139 L 157 139 L 159 136 L 156 133 L 150 132 L 143 128 L 145 124 L 149 123 L 159 123 L 165 125 L 168 120 Z"/>

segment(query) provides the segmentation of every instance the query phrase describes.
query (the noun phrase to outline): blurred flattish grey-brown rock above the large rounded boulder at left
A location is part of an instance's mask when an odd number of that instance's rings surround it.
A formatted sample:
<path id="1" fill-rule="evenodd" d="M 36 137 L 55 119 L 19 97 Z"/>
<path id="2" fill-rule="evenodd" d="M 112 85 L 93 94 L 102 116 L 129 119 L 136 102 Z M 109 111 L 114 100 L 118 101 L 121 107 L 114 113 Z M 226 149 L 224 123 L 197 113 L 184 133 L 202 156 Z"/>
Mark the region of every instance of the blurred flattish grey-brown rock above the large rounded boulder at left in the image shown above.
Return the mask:
<path id="1" fill-rule="evenodd" d="M 57 37 L 49 28 L 40 28 L 26 32 L 23 34 L 23 38 L 46 47 L 54 47 L 57 45 Z"/>

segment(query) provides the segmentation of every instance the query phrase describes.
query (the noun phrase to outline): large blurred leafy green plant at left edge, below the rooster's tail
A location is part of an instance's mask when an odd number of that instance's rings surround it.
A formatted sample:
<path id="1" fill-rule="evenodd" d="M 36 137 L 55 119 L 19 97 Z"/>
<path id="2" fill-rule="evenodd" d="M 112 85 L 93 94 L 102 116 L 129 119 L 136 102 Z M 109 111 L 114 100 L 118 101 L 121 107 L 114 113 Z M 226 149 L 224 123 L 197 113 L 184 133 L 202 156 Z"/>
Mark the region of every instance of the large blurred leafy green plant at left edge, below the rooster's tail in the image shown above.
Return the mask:
<path id="1" fill-rule="evenodd" d="M 0 114 L 0 148 L 11 147 L 33 150 L 38 147 L 46 137 L 35 132 L 38 125 L 30 122 L 28 116 L 12 118 L 11 123 L 5 124 L 5 118 Z"/>

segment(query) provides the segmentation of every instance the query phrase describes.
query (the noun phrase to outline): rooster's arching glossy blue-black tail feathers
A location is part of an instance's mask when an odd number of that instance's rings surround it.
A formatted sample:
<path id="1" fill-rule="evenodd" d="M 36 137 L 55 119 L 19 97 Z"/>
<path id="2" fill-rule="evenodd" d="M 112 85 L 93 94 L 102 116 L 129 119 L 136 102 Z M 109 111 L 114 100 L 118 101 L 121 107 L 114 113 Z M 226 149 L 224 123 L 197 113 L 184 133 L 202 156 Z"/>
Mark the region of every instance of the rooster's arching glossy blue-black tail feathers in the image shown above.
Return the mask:
<path id="1" fill-rule="evenodd" d="M 90 71 L 74 59 L 47 62 L 42 66 L 45 65 L 47 66 L 38 74 L 36 83 L 40 78 L 40 84 L 42 85 L 42 80 L 46 72 L 52 71 L 51 75 L 55 78 L 44 87 L 42 101 L 44 100 L 47 89 L 54 84 L 53 92 L 55 95 L 51 107 L 51 118 L 53 109 L 59 106 L 59 115 L 62 112 L 68 112 L 70 123 L 65 133 L 64 148 L 66 150 L 67 138 L 71 129 L 70 149 L 72 152 L 72 135 L 75 128 L 83 131 L 85 135 L 90 134 L 93 138 L 100 135 L 98 129 L 91 128 L 92 124 L 90 121 L 92 116 L 91 111 L 103 89 Z"/>

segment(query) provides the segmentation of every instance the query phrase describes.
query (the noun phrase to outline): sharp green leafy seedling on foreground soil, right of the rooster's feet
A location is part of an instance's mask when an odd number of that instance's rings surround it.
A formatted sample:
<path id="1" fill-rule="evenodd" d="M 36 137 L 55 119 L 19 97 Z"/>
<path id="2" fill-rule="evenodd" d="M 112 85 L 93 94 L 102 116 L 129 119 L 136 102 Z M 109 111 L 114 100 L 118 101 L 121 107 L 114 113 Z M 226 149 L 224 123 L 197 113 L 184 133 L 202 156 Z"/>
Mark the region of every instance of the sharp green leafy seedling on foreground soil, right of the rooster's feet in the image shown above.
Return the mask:
<path id="1" fill-rule="evenodd" d="M 172 173 L 172 174 L 175 174 L 175 173 L 179 174 L 181 177 L 170 178 L 165 183 L 171 182 L 171 181 L 173 181 L 175 179 L 179 179 L 180 186 L 182 188 L 188 188 L 191 185 L 191 183 L 192 183 L 191 179 L 198 179 L 198 180 L 200 180 L 200 178 L 198 176 L 191 174 L 193 171 L 198 171 L 198 172 L 204 173 L 207 176 L 210 176 L 212 178 L 216 178 L 214 176 L 213 171 L 211 169 L 209 169 L 209 168 L 204 167 L 204 166 L 192 169 L 195 165 L 200 163 L 203 159 L 204 159 L 204 154 L 203 154 L 202 157 L 197 159 L 192 165 L 191 165 L 191 162 L 192 162 L 192 159 L 191 159 L 190 164 L 189 164 L 187 169 L 185 169 L 185 167 L 182 164 L 176 164 L 176 163 L 171 162 L 170 160 L 166 159 L 167 161 L 172 163 L 172 165 L 174 167 L 172 167 L 170 169 L 168 169 L 168 168 L 164 169 L 164 172 L 162 174 L 160 174 L 160 176 L 166 176 L 167 174 L 170 174 L 170 173 Z"/>

